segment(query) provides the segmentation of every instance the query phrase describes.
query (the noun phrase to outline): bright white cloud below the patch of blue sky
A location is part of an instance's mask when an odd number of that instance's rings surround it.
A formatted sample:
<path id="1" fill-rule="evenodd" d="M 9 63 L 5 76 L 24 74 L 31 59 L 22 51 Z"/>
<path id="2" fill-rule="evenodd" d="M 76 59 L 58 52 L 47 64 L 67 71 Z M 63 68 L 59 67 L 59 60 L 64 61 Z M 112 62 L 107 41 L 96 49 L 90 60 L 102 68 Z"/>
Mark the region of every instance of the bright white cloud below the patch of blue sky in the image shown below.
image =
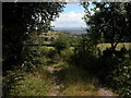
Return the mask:
<path id="1" fill-rule="evenodd" d="M 84 12 L 60 13 L 60 16 L 52 22 L 52 25 L 55 27 L 86 27 L 84 20 L 82 20 Z"/>

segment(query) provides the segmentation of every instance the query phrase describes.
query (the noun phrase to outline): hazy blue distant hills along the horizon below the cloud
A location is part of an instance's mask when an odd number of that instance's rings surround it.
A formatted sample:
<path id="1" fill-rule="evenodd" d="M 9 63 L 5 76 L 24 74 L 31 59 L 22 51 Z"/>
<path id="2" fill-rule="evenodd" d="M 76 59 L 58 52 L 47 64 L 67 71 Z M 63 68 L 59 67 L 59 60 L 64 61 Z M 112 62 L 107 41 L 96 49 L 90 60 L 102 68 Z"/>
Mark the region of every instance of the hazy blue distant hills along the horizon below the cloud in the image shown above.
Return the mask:
<path id="1" fill-rule="evenodd" d="M 53 27 L 52 29 L 59 30 L 59 32 L 64 32 L 64 33 L 70 33 L 73 35 L 81 35 L 86 33 L 85 27 Z"/>

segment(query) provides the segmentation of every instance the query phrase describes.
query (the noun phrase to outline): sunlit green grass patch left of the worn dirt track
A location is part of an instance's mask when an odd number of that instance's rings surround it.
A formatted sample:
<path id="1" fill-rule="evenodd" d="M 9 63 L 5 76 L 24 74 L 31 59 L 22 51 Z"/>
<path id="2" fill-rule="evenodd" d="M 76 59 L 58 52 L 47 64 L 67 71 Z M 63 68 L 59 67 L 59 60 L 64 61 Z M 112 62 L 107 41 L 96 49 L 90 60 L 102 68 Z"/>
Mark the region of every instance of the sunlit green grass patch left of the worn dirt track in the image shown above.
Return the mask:
<path id="1" fill-rule="evenodd" d="M 20 81 L 15 89 L 12 91 L 13 96 L 47 96 L 52 82 L 50 73 L 45 71 L 44 68 L 37 69 L 36 72 L 24 72 L 24 79 Z"/>

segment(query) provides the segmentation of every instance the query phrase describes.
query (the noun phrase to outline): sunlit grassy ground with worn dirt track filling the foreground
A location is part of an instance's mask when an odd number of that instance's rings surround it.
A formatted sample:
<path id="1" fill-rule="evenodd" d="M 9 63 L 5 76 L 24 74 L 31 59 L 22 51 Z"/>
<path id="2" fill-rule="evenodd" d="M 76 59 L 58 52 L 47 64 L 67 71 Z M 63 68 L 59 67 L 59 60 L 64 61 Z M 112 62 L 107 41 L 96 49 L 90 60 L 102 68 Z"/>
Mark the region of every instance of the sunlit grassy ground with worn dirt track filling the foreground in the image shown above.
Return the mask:
<path id="1" fill-rule="evenodd" d="M 43 65 L 34 73 L 17 71 L 23 74 L 14 96 L 116 96 L 99 81 L 83 70 L 63 61 Z"/>

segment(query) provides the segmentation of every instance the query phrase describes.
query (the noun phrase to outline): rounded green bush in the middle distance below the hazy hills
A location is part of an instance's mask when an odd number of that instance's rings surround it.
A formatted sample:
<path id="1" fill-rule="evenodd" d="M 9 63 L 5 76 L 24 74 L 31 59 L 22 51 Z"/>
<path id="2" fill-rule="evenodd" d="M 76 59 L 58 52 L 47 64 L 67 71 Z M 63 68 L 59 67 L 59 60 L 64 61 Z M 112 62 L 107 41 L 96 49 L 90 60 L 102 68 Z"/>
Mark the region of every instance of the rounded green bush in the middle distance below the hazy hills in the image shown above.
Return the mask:
<path id="1" fill-rule="evenodd" d="M 55 45 L 55 48 L 57 52 L 60 54 L 60 52 L 67 48 L 70 47 L 70 38 L 67 34 L 60 34 L 56 40 L 52 41 L 52 45 Z"/>

